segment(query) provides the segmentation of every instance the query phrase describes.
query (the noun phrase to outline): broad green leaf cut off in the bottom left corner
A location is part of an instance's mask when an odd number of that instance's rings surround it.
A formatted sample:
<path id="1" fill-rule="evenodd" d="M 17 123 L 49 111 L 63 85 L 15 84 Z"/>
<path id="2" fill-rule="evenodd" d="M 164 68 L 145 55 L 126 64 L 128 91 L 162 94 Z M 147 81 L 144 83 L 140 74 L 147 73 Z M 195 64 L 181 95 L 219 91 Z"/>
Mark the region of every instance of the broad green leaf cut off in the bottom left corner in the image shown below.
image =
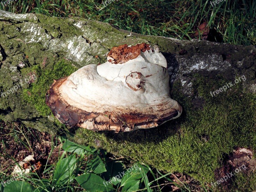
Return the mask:
<path id="1" fill-rule="evenodd" d="M 33 185 L 26 183 L 25 181 L 13 181 L 4 187 L 4 192 L 38 192 L 39 190 L 34 188 Z"/>

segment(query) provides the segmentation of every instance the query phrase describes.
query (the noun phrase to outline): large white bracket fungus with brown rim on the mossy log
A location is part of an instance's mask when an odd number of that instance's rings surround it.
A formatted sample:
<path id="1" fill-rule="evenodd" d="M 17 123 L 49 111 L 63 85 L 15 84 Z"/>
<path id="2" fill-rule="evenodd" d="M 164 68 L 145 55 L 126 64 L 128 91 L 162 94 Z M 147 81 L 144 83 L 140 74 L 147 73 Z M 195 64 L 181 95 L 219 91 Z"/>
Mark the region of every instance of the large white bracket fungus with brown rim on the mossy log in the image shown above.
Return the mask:
<path id="1" fill-rule="evenodd" d="M 166 59 L 156 45 L 113 47 L 107 60 L 54 81 L 46 104 L 61 123 L 122 132 L 181 115 L 180 104 L 170 97 Z"/>

